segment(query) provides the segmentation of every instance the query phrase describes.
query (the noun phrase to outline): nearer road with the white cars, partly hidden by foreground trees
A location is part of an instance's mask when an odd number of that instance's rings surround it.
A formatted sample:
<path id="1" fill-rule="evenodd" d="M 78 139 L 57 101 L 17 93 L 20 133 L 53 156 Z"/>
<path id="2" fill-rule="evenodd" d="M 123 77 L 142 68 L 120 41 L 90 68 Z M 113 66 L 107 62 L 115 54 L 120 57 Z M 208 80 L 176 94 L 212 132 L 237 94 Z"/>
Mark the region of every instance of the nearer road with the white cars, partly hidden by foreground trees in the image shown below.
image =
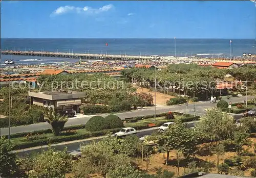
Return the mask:
<path id="1" fill-rule="evenodd" d="M 189 123 L 186 124 L 187 128 L 191 128 L 193 126 L 195 126 L 195 123 L 193 123 L 193 122 L 189 122 Z M 157 130 L 157 128 L 154 128 L 154 130 L 146 130 L 146 131 L 142 131 L 142 132 L 138 131 L 137 136 L 140 138 L 140 137 L 145 136 L 145 135 L 151 135 L 155 130 Z M 100 141 L 100 140 L 102 140 L 102 138 L 88 140 L 88 141 L 82 141 L 82 142 L 76 142 L 76 143 L 71 143 L 71 144 L 63 144 L 63 145 L 58 145 L 58 146 L 52 146 L 52 148 L 57 149 L 57 150 L 63 150 L 65 147 L 67 147 L 68 152 L 71 152 L 71 151 L 76 150 L 77 148 L 79 148 L 79 146 L 81 144 L 89 144 L 92 141 L 97 142 L 97 141 Z M 18 154 L 19 157 L 26 157 L 26 156 L 31 155 L 33 153 L 41 152 L 41 150 L 45 150 L 45 149 L 47 149 L 47 147 L 46 148 L 33 149 L 33 150 L 26 150 L 26 151 L 21 151 L 20 150 L 19 152 L 17 152 L 17 154 Z"/>

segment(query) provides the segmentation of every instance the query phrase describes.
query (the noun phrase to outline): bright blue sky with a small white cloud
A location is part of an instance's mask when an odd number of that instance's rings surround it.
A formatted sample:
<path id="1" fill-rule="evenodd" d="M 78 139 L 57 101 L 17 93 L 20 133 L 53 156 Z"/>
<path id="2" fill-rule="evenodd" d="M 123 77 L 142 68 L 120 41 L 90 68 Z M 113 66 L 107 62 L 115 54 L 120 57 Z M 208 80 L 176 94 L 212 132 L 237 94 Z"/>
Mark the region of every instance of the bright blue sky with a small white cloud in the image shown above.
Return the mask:
<path id="1" fill-rule="evenodd" d="M 255 38 L 250 1 L 2 1 L 2 38 Z"/>

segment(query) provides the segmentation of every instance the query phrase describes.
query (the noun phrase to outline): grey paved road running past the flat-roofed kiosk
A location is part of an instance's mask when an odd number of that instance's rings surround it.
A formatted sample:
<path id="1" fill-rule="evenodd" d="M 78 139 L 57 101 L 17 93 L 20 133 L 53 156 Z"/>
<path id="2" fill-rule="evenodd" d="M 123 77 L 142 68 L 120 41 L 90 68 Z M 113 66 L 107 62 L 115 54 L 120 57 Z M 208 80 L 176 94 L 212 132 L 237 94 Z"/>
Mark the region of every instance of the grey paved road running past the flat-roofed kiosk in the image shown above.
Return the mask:
<path id="1" fill-rule="evenodd" d="M 246 97 L 231 97 L 227 101 L 231 101 L 232 103 L 239 103 L 243 102 Z M 249 96 L 248 99 L 252 99 L 253 96 Z M 216 107 L 217 104 L 211 104 L 209 101 L 202 101 L 199 103 L 196 103 L 196 115 L 203 116 L 206 111 L 205 109 Z M 194 104 L 188 104 L 188 107 L 185 105 L 181 106 L 157 106 L 156 107 L 156 113 L 163 113 L 168 111 L 177 111 L 181 113 L 187 113 L 187 114 L 194 114 Z M 137 111 L 131 111 L 131 112 L 125 112 L 125 113 L 118 113 L 116 114 L 121 119 L 128 118 L 128 117 L 135 117 L 135 116 L 144 116 L 144 115 L 150 115 L 154 114 L 154 107 L 148 107 L 147 109 L 137 110 Z M 101 114 L 101 116 L 105 117 L 108 114 Z M 65 124 L 65 126 L 71 126 L 71 125 L 80 125 L 80 124 L 86 124 L 86 122 L 91 118 L 92 116 L 87 116 L 83 118 L 70 118 L 68 122 Z M 30 124 L 30 125 L 24 125 L 24 126 L 16 126 L 11 128 L 11 134 L 16 133 L 23 133 L 23 132 L 32 132 L 32 131 L 39 131 L 39 130 L 45 130 L 45 129 L 51 129 L 51 126 L 49 123 L 36 123 L 36 124 Z M 1 129 L 1 136 L 2 135 L 8 135 L 8 128 Z"/>

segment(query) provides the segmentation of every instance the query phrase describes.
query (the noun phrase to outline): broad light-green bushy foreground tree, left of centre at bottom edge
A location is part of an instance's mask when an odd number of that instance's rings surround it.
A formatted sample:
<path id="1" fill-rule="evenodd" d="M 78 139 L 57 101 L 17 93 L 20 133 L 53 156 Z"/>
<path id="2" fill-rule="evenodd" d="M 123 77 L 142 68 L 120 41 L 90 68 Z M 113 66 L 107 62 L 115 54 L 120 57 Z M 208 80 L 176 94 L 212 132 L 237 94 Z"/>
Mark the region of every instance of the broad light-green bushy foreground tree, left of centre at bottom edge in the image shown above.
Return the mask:
<path id="1" fill-rule="evenodd" d="M 82 158 L 75 163 L 73 172 L 75 177 L 86 177 L 90 173 L 100 173 L 103 177 L 110 170 L 118 166 L 127 166 L 129 157 L 124 154 L 115 154 L 111 146 L 104 141 L 93 142 L 80 147 Z"/>

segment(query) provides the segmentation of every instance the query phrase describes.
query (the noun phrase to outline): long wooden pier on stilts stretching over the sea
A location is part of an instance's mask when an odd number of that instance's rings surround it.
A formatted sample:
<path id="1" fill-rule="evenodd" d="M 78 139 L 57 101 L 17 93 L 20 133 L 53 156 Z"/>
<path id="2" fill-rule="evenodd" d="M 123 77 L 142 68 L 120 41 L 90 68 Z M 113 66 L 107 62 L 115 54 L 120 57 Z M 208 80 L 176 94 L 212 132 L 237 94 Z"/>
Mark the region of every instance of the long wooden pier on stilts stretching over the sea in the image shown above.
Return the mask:
<path id="1" fill-rule="evenodd" d="M 128 56 L 128 55 L 111 55 L 111 54 L 83 54 L 83 53 L 55 53 L 55 52 L 33 52 L 33 51 L 14 51 L 2 50 L 2 55 L 17 56 L 39 56 L 54 58 L 78 58 L 78 59 L 105 59 L 105 60 L 151 60 L 150 56 Z"/>

